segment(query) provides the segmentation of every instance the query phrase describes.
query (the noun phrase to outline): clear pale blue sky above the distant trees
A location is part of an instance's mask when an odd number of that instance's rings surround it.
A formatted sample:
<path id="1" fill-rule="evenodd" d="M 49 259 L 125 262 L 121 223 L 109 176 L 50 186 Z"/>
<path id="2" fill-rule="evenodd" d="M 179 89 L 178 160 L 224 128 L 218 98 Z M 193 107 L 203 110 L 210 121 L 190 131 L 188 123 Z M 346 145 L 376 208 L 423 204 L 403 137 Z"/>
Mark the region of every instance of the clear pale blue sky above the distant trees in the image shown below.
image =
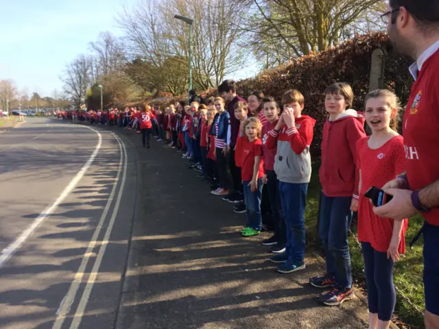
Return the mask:
<path id="1" fill-rule="evenodd" d="M 116 18 L 138 0 L 0 1 L 0 80 L 15 80 L 19 90 L 51 96 L 60 92 L 66 64 L 88 51 L 99 32 L 123 36 Z M 254 75 L 251 65 L 228 78 Z"/>

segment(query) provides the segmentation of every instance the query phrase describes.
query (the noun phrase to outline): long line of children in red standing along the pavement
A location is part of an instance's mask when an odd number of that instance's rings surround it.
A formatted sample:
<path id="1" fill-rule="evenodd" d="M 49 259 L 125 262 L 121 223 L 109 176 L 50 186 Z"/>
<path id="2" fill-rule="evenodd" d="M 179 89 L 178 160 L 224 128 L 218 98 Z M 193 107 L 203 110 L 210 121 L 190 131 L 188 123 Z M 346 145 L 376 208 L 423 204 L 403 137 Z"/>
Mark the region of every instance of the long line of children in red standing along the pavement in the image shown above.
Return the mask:
<path id="1" fill-rule="evenodd" d="M 316 120 L 302 114 L 305 99 L 298 90 L 285 92 L 281 103 L 259 91 L 245 101 L 237 95 L 235 82 L 226 80 L 218 93 L 220 97 L 205 104 L 181 101 L 163 112 L 146 105 L 80 115 L 91 123 L 137 130 L 146 147 L 152 134 L 164 139 L 211 183 L 211 194 L 235 204 L 235 212 L 246 212 L 242 236 L 256 236 L 264 226 L 273 230 L 263 245 L 274 246 L 270 260 L 278 264 L 278 272 L 305 269 L 304 214 Z M 343 83 L 329 86 L 322 97 L 328 119 L 321 145 L 319 234 L 327 269 L 309 283 L 331 288 L 320 297 L 329 306 L 353 298 L 347 232 L 358 211 L 370 328 L 388 328 L 396 300 L 393 265 L 405 252 L 407 220 L 377 217 L 364 194 L 403 172 L 403 138 L 396 132 L 399 100 L 388 90 L 375 90 L 367 95 L 364 112 L 357 112 L 351 109 L 351 86 Z M 263 202 L 271 212 L 267 223 Z"/>

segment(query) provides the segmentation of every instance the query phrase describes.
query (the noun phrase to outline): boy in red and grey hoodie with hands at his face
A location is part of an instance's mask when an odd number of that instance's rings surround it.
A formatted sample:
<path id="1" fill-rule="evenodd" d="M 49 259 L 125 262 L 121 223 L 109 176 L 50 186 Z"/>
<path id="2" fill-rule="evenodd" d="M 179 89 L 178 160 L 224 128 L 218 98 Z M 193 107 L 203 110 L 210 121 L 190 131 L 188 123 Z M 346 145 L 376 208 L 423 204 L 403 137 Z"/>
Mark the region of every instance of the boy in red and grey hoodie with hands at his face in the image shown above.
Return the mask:
<path id="1" fill-rule="evenodd" d="M 267 138 L 268 149 L 277 147 L 274 172 L 279 180 L 282 213 L 287 243 L 285 252 L 270 257 L 278 272 L 292 273 L 305 269 L 305 206 L 311 180 L 311 155 L 316 120 L 302 115 L 305 99 L 298 90 L 282 97 L 283 113 Z"/>

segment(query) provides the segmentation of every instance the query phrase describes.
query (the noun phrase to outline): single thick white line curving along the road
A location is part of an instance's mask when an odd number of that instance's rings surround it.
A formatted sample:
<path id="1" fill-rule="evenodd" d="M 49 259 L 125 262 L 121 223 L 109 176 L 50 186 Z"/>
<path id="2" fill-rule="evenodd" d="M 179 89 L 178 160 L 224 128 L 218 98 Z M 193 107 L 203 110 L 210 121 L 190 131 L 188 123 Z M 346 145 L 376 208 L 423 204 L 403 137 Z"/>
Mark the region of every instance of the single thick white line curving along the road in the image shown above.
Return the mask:
<path id="1" fill-rule="evenodd" d="M 64 188 L 64 191 L 62 191 L 62 193 L 55 200 L 55 202 L 45 208 L 45 210 L 40 213 L 40 215 L 32 222 L 32 224 L 28 228 L 26 228 L 26 230 L 21 232 L 21 234 L 14 240 L 14 242 L 12 242 L 10 245 L 8 245 L 8 247 L 5 247 L 5 249 L 1 251 L 0 268 L 5 265 L 5 263 L 12 257 L 12 255 L 21 247 L 21 245 L 23 245 L 27 238 L 36 230 L 36 228 L 38 228 L 38 226 L 40 226 L 40 224 L 43 223 L 43 221 L 47 219 L 47 217 L 49 217 L 51 213 L 56 210 L 56 208 L 58 208 L 59 204 L 64 201 L 64 199 L 71 193 L 73 188 L 75 188 L 76 184 L 78 184 L 78 182 L 81 180 L 81 178 L 84 176 L 88 168 L 90 168 L 91 164 L 95 160 L 102 145 L 102 135 L 99 134 L 97 130 L 89 127 L 87 128 L 93 130 L 93 132 L 95 132 L 99 138 L 93 154 L 91 154 L 90 158 L 88 158 L 87 162 L 84 164 L 84 166 L 82 166 L 81 170 L 71 180 L 69 185 Z"/>

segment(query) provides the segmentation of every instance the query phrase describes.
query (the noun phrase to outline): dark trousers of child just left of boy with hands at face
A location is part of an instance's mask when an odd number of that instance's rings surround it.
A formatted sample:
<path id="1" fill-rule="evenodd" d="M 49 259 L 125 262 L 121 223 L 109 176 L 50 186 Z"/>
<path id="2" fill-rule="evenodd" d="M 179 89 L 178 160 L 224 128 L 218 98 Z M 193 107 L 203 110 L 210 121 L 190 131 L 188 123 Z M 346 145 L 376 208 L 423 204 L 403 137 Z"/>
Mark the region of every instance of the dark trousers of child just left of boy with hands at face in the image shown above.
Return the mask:
<path id="1" fill-rule="evenodd" d="M 279 181 L 273 170 L 266 170 L 268 198 L 270 199 L 270 208 L 272 210 L 272 222 L 274 226 L 274 236 L 276 236 L 279 245 L 285 245 L 287 242 L 287 232 L 285 229 L 285 220 L 282 215 L 281 195 L 279 194 Z"/>

